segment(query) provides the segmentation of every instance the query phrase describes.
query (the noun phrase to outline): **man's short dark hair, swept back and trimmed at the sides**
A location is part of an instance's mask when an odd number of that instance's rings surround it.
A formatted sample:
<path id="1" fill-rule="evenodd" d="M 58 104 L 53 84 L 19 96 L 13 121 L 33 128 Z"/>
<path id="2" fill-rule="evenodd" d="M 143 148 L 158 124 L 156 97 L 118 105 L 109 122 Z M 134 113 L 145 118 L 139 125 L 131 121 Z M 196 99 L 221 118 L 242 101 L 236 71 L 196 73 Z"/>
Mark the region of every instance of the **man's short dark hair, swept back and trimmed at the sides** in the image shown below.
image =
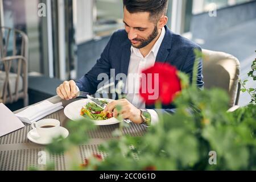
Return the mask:
<path id="1" fill-rule="evenodd" d="M 167 13 L 168 0 L 123 0 L 129 13 L 148 12 L 151 22 L 156 22 Z"/>

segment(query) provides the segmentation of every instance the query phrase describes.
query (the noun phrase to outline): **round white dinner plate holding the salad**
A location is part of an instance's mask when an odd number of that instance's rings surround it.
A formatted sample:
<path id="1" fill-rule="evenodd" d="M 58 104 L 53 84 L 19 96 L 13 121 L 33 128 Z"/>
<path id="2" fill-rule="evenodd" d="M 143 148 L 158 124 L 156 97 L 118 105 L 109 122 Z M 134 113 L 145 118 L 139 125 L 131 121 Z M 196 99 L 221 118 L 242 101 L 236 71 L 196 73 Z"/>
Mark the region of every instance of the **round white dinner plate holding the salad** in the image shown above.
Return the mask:
<path id="1" fill-rule="evenodd" d="M 109 98 L 98 98 L 98 100 L 105 100 L 108 102 L 114 101 L 112 99 Z M 91 100 L 89 100 L 89 98 L 85 98 L 82 100 L 78 100 L 78 101 L 74 101 L 71 102 L 71 104 L 68 104 L 67 106 L 65 106 L 64 109 L 64 114 L 71 120 L 73 121 L 77 121 L 80 119 L 84 119 L 84 117 L 82 117 L 80 115 L 80 110 L 82 108 L 82 106 L 86 105 L 88 102 L 92 102 Z M 95 125 L 113 125 L 115 123 L 119 123 L 120 121 L 114 117 L 109 118 L 109 119 L 105 119 L 105 120 L 92 120 Z"/>

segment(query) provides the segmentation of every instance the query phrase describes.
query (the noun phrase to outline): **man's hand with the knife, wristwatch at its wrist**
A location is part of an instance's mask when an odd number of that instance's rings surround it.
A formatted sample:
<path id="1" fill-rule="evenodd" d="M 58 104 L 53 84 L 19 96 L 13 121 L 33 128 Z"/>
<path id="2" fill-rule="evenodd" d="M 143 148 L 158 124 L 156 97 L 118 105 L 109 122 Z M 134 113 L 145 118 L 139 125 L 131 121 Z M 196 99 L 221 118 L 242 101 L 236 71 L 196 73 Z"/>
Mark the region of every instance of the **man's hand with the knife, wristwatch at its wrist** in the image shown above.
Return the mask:
<path id="1" fill-rule="evenodd" d="M 116 106 L 121 106 L 121 111 L 117 111 Z M 123 119 L 130 119 L 132 122 L 141 124 L 143 122 L 141 118 L 141 110 L 137 109 L 134 105 L 132 105 L 126 98 L 122 98 L 121 100 L 112 101 L 106 106 L 104 112 L 113 113 L 113 117 L 117 118 L 118 114 L 121 114 Z"/>

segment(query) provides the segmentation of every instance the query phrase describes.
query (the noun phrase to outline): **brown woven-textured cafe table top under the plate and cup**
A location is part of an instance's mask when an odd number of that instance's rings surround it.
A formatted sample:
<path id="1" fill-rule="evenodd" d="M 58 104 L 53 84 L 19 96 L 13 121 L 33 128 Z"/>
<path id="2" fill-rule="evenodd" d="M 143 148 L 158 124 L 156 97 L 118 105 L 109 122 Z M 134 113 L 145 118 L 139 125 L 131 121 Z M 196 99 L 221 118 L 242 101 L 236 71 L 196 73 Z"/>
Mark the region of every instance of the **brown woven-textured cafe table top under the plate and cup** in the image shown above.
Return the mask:
<path id="1" fill-rule="evenodd" d="M 57 102 L 63 102 L 63 106 L 67 106 L 69 103 L 79 100 L 64 101 L 59 96 L 48 98 L 47 100 L 53 104 Z M 24 109 L 24 108 L 23 108 Z M 16 110 L 14 113 L 18 113 L 23 109 Z M 61 126 L 65 127 L 67 122 L 70 121 L 64 114 L 64 109 L 56 111 L 44 118 L 58 119 Z M 27 138 L 27 133 L 32 129 L 31 125 L 24 123 L 25 127 L 16 130 L 13 133 L 7 134 L 0 137 L 0 171 L 6 170 L 27 170 L 30 166 L 42 167 L 43 164 L 39 163 L 40 151 L 45 150 L 45 146 L 31 142 Z M 81 163 L 84 163 L 84 159 L 91 154 L 101 154 L 104 158 L 106 154 L 98 151 L 97 147 L 106 142 L 107 140 L 113 139 L 112 132 L 117 129 L 119 123 L 114 125 L 98 126 L 97 129 L 88 131 L 89 142 L 79 146 L 78 158 Z M 135 125 L 130 123 L 130 127 L 123 129 L 123 134 L 129 134 L 131 136 L 141 136 L 146 132 L 146 128 L 142 125 Z M 49 155 L 49 160 L 55 163 L 55 170 L 63 171 L 68 170 L 66 154 Z"/>

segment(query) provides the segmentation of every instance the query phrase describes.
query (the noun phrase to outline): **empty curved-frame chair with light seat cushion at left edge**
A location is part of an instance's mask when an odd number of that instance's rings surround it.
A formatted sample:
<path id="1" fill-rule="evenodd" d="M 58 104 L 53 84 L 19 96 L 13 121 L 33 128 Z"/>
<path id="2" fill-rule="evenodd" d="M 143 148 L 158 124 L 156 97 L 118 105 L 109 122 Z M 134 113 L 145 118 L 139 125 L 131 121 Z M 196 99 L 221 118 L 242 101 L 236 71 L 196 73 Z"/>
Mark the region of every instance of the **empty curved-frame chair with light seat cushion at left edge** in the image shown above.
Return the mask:
<path id="1" fill-rule="evenodd" d="M 24 106 L 28 105 L 27 59 L 27 35 L 0 27 L 0 102 L 10 104 L 23 98 Z"/>

